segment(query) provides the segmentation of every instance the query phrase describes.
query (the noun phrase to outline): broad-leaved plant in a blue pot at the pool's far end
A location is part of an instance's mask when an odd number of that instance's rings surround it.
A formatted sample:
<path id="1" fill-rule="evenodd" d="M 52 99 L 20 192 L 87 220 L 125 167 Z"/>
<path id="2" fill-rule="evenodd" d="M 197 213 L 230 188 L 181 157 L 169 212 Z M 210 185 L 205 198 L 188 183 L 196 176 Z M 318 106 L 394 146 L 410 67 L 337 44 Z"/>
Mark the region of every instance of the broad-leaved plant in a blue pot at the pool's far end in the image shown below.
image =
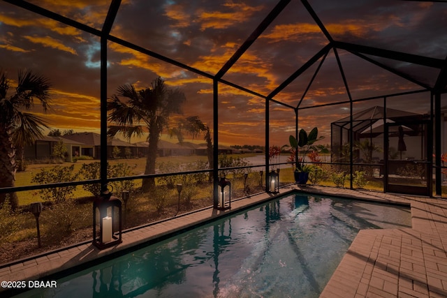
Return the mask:
<path id="1" fill-rule="evenodd" d="M 318 128 L 312 128 L 309 134 L 304 129 L 301 129 L 298 133 L 298 140 L 293 135 L 288 137 L 288 142 L 290 143 L 291 157 L 288 161 L 295 163 L 295 181 L 298 184 L 307 184 L 309 179 L 309 172 L 312 169 L 312 165 L 305 164 L 306 154 L 309 151 L 320 151 L 327 153 L 323 145 L 315 146 L 314 142 L 323 139 L 324 137 L 318 137 Z M 298 153 L 297 153 L 298 152 Z"/>

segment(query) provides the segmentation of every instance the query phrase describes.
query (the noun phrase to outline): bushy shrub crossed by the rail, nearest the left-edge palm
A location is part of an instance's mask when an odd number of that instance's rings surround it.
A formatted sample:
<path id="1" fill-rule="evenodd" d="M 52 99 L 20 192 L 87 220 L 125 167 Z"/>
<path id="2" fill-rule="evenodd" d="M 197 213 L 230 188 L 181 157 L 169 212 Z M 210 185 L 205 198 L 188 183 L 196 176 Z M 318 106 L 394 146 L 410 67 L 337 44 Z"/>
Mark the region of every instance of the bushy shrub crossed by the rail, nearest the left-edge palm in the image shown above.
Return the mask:
<path id="1" fill-rule="evenodd" d="M 59 182 L 75 181 L 78 179 L 78 174 L 73 174 L 75 165 L 62 167 L 57 165 L 55 167 L 44 167 L 41 172 L 33 175 L 31 182 L 37 184 L 51 184 Z M 64 202 L 68 198 L 73 197 L 73 192 L 76 186 L 57 186 L 52 188 L 43 188 L 37 192 L 41 194 L 43 200 L 53 201 L 56 203 Z"/>

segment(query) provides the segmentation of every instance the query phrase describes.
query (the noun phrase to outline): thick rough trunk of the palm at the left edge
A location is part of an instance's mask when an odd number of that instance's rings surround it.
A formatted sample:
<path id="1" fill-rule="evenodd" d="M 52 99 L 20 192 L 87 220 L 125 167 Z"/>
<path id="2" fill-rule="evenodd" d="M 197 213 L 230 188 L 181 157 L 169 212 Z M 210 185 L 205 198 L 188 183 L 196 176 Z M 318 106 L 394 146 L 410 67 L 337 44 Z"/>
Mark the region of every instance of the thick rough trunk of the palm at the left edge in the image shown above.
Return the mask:
<path id="1" fill-rule="evenodd" d="M 15 147 L 13 145 L 12 129 L 0 127 L 0 188 L 15 186 Z M 18 206 L 16 193 L 0 193 L 0 204 L 5 202 L 9 195 L 10 204 L 13 209 Z"/>

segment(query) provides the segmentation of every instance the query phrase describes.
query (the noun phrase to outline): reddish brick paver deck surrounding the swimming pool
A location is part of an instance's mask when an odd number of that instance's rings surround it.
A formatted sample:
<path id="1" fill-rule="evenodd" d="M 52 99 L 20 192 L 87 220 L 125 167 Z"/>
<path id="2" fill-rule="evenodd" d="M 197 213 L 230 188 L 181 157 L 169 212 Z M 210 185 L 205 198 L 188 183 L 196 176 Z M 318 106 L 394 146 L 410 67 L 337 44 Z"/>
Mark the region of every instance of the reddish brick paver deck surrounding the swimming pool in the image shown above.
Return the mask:
<path id="1" fill-rule="evenodd" d="M 280 194 L 300 189 L 281 188 Z M 411 204 L 412 228 L 360 230 L 320 297 L 447 297 L 447 200 L 373 191 L 307 186 L 302 191 L 381 202 Z M 231 203 L 231 211 L 269 200 L 261 193 Z M 0 265 L 0 281 L 51 281 L 74 273 L 82 265 L 135 246 L 168 237 L 184 228 L 224 216 L 212 208 L 128 230 L 122 243 L 98 250 L 91 241 Z M 114 255 L 113 255 L 114 256 Z M 0 288 L 0 296 L 16 290 Z"/>

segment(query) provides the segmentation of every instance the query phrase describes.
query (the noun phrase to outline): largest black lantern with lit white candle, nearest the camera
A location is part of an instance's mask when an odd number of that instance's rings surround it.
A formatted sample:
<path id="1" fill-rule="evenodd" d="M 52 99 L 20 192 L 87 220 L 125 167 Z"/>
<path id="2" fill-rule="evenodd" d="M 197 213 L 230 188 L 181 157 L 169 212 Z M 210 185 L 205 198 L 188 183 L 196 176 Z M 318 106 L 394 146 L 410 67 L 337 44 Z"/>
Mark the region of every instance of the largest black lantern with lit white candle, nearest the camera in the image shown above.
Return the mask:
<path id="1" fill-rule="evenodd" d="M 122 242 L 122 203 L 103 187 L 93 202 L 93 244 L 99 249 Z"/>

